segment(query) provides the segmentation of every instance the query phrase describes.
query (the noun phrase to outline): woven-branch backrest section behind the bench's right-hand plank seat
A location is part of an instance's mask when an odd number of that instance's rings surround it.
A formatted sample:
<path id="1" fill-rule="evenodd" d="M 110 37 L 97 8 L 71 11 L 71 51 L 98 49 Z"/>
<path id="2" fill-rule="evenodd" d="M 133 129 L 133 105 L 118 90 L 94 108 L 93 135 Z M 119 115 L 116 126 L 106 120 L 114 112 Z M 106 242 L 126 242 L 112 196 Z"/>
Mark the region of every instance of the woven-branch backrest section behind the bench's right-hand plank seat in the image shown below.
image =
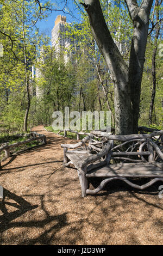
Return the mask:
<path id="1" fill-rule="evenodd" d="M 112 139 L 116 141 L 115 137 Z M 122 136 L 118 138 L 118 142 L 108 153 L 112 159 L 122 163 L 148 162 L 162 168 L 159 162 L 163 161 L 163 131 L 146 135 Z"/>

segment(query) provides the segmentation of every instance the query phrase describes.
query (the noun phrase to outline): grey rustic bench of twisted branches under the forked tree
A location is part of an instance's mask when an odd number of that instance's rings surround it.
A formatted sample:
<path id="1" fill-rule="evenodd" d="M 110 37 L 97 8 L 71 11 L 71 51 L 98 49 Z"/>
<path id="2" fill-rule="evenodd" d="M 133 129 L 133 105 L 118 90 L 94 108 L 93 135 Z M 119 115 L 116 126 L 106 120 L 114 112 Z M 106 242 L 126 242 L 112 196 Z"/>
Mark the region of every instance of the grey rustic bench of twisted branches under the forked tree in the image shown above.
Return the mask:
<path id="1" fill-rule="evenodd" d="M 76 144 L 61 144 L 64 148 L 64 166 L 77 169 L 82 197 L 102 190 L 111 180 L 123 180 L 143 190 L 156 181 L 163 181 L 163 131 L 139 135 L 108 135 L 93 131 Z M 71 149 L 71 150 L 68 150 Z M 88 188 L 88 178 L 103 178 L 94 190 Z M 151 178 L 139 186 L 128 178 Z"/>

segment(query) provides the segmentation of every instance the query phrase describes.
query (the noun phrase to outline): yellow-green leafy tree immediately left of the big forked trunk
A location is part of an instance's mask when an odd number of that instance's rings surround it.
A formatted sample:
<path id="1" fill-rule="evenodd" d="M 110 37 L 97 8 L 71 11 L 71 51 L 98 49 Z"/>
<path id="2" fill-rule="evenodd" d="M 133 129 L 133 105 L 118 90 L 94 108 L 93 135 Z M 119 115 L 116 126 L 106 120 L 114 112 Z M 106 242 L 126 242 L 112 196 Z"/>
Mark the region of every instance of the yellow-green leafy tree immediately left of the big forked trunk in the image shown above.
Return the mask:
<path id="1" fill-rule="evenodd" d="M 70 51 L 70 53 L 76 52 L 76 54 L 73 55 L 74 60 L 72 61 L 73 65 L 77 66 L 78 76 L 76 77 L 76 80 L 79 86 L 80 95 L 79 109 L 80 107 L 83 107 L 84 111 L 87 109 L 87 106 L 89 105 L 89 102 L 86 102 L 85 99 L 85 95 L 89 91 L 89 88 L 87 87 L 92 86 L 92 84 L 96 84 L 97 88 L 95 88 L 95 92 L 97 92 L 98 90 L 98 101 L 100 108 L 101 110 L 104 108 L 101 102 L 101 94 L 104 99 L 103 105 L 106 105 L 106 109 L 108 108 L 108 110 L 111 111 L 112 125 L 114 126 L 114 109 L 112 106 L 112 97 L 110 96 L 110 90 L 112 90 L 112 82 L 110 80 L 108 68 L 104 63 L 103 56 L 99 52 L 96 41 L 91 33 L 89 20 L 87 16 L 83 15 L 82 12 L 81 20 L 82 22 L 79 24 L 74 23 L 73 25 L 67 25 L 66 35 L 64 33 L 62 34 L 62 36 L 65 35 L 68 38 L 71 38 L 71 41 L 73 41 L 70 49 L 65 49 L 65 51 Z M 87 83 L 87 81 L 93 79 L 95 80 L 93 83 Z M 93 108 L 97 109 L 97 104 L 96 106 L 94 106 L 96 102 L 96 97 L 94 98 L 92 95 Z M 83 101 L 83 105 L 81 104 L 81 99 Z"/>

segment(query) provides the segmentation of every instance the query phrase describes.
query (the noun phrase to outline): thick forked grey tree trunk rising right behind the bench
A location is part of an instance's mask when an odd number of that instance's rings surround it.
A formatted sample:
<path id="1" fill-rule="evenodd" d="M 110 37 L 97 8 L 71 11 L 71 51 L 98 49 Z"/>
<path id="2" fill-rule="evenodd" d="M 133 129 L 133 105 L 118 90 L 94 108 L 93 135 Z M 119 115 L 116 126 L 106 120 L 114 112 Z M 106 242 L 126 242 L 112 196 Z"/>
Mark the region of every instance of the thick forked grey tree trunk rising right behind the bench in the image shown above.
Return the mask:
<path id="1" fill-rule="evenodd" d="M 149 14 L 153 0 L 126 0 L 134 22 L 129 68 L 112 39 L 99 0 L 85 0 L 92 33 L 110 70 L 115 90 L 115 132 L 126 135 L 137 132 L 140 87 L 148 35 Z M 135 99 L 136 98 L 136 99 Z"/>

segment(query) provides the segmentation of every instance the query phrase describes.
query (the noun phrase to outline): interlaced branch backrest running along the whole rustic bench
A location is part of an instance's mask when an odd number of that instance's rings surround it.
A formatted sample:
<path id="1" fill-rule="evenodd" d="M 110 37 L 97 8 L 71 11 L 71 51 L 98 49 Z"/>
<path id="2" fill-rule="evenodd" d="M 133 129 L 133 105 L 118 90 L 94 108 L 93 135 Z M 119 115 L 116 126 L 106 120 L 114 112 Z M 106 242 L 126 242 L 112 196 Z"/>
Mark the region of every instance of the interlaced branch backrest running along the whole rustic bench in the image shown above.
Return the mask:
<path id="1" fill-rule="evenodd" d="M 103 152 L 108 142 L 112 143 L 111 149 L 101 158 L 101 154 L 98 153 Z M 111 159 L 122 163 L 154 162 L 159 166 L 159 161 L 163 160 L 163 131 L 137 135 L 110 135 L 106 132 L 92 131 L 82 141 L 76 144 L 61 144 L 61 147 L 64 148 L 66 165 L 68 165 L 68 153 L 89 155 L 97 153 L 99 160 L 105 160 L 107 155 L 109 162 Z"/>

